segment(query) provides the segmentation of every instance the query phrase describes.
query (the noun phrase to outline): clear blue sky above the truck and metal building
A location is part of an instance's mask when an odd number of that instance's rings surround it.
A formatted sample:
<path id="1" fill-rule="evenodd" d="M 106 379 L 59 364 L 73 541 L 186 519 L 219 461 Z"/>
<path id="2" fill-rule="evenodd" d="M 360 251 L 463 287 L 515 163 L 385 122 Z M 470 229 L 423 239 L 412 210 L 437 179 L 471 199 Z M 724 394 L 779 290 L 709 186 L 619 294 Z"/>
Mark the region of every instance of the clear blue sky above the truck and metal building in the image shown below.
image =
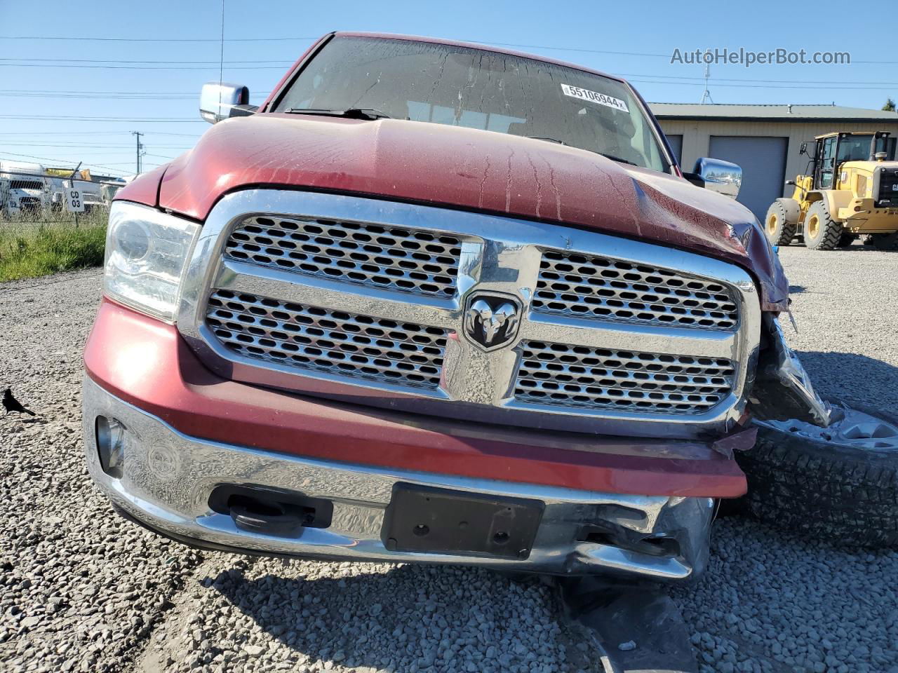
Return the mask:
<path id="1" fill-rule="evenodd" d="M 822 1 L 809 12 L 781 0 L 224 0 L 224 80 L 247 85 L 258 104 L 313 39 L 384 31 L 513 46 L 624 75 L 647 101 L 699 102 L 704 66 L 672 63 L 675 49 L 784 48 L 847 51 L 851 63 L 715 64 L 711 99 L 879 109 L 898 99 L 894 22 L 876 22 L 894 16 L 894 0 L 837 21 L 844 8 Z M 222 13 L 222 0 L 0 0 L 0 162 L 84 162 L 97 173 L 132 174 L 133 131 L 145 134 L 145 170 L 188 150 L 208 127 L 198 94 L 219 78 Z"/>

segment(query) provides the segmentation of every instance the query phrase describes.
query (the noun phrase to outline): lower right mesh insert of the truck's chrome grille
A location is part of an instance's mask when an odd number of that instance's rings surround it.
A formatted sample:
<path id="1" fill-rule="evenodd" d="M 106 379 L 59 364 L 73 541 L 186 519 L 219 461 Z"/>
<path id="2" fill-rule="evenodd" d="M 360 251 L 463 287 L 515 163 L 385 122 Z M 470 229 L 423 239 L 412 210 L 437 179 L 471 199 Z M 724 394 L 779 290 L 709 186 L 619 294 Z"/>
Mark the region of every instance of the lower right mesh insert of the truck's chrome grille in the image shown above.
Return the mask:
<path id="1" fill-rule="evenodd" d="M 735 363 L 525 341 L 515 398 L 540 405 L 695 414 L 726 398 Z"/>

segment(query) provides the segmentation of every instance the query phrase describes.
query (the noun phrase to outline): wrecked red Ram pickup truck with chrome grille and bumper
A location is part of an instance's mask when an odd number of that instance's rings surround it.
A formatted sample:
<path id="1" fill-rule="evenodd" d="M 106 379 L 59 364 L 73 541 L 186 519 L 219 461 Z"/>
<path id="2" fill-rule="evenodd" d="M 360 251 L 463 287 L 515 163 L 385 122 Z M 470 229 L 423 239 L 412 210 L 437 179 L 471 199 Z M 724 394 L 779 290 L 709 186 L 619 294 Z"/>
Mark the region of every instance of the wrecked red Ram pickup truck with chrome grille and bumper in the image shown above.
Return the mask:
<path id="1" fill-rule="evenodd" d="M 334 33 L 201 114 L 111 207 L 84 354 L 90 472 L 150 529 L 683 580 L 749 410 L 830 420 L 741 171 L 682 173 L 618 77 Z"/>

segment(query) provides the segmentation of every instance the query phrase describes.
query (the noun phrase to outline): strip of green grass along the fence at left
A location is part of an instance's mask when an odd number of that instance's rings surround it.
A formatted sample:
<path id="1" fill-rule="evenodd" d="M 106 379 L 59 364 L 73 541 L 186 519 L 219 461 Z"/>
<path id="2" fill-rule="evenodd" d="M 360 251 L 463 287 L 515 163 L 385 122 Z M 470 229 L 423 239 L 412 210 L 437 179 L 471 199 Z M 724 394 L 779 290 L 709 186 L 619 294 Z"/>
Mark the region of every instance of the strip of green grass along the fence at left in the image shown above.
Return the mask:
<path id="1" fill-rule="evenodd" d="M 106 214 L 73 222 L 0 221 L 0 283 L 101 267 Z"/>

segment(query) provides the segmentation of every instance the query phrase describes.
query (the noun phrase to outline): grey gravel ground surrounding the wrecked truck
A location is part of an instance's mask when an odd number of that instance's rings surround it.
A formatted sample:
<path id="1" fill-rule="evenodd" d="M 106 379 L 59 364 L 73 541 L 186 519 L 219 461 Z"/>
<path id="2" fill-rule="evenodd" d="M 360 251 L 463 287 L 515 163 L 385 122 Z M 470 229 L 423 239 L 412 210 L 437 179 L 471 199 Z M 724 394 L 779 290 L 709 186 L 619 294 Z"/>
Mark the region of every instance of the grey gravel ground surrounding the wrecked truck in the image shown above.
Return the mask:
<path id="1" fill-rule="evenodd" d="M 898 256 L 780 250 L 825 393 L 898 409 Z M 84 470 L 80 350 L 95 270 L 0 285 L 0 670 L 577 671 L 594 651 L 549 588 L 464 568 L 198 553 L 112 515 Z M 718 522 L 672 590 L 703 671 L 898 673 L 898 554 Z"/>

